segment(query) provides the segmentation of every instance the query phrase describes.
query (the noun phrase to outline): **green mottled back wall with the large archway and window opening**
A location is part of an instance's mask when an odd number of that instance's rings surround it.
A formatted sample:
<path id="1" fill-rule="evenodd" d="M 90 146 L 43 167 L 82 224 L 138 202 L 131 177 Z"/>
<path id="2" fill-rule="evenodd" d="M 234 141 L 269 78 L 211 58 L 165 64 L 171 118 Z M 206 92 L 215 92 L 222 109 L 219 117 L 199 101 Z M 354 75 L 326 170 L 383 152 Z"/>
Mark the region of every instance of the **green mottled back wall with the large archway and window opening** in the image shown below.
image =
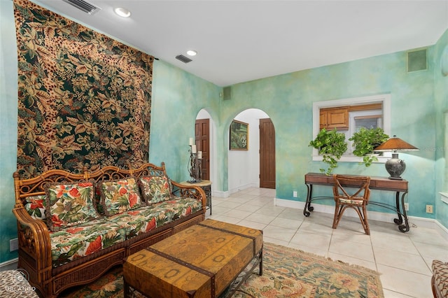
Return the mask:
<path id="1" fill-rule="evenodd" d="M 428 48 L 432 57 L 433 48 Z M 396 52 L 332 66 L 288 73 L 232 86 L 232 101 L 221 109 L 225 127 L 244 108 L 260 108 L 276 130 L 276 197 L 304 201 L 307 189 L 304 174 L 318 171 L 320 162 L 311 161 L 312 103 L 332 99 L 391 94 L 391 133 L 421 148 L 412 154 L 400 153 L 407 162 L 404 177 L 409 180 L 409 214 L 432 218 L 426 204 L 435 197 L 435 98 L 433 63 L 428 71 L 407 73 L 406 52 Z M 339 162 L 335 173 L 387 176 L 384 164 L 365 168 L 357 163 Z M 423 185 L 421 181 L 428 181 Z M 429 185 L 429 187 L 428 187 Z M 320 190 L 329 194 L 330 189 Z M 316 192 L 317 194 L 317 192 Z M 374 199 L 391 202 L 391 192 L 374 192 Z M 371 210 L 375 210 L 371 206 Z M 378 209 L 384 211 L 382 209 Z"/>

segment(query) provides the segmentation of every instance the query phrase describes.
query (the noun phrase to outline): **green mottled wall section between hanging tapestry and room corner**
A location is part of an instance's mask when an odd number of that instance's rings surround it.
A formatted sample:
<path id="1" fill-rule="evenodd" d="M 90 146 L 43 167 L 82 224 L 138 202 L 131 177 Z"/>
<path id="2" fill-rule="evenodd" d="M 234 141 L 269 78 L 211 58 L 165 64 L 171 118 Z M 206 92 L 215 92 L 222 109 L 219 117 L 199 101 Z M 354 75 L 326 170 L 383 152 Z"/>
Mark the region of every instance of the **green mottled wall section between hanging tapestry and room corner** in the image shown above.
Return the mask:
<path id="1" fill-rule="evenodd" d="M 218 120 L 221 88 L 186 71 L 155 61 L 149 159 L 165 162 L 173 180 L 188 178 L 188 140 L 195 136 L 196 115 L 202 108 Z"/>

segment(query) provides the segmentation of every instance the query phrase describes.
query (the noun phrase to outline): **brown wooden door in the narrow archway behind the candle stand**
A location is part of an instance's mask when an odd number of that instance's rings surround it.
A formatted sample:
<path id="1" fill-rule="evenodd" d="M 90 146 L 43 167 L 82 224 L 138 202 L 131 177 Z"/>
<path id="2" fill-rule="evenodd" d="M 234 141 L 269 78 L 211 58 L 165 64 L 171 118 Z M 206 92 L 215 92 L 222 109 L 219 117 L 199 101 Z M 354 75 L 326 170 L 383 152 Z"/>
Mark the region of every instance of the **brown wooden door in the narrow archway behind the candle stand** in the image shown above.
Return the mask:
<path id="1" fill-rule="evenodd" d="M 202 180 L 210 180 L 210 120 L 198 119 L 195 124 L 196 148 L 202 151 Z"/>

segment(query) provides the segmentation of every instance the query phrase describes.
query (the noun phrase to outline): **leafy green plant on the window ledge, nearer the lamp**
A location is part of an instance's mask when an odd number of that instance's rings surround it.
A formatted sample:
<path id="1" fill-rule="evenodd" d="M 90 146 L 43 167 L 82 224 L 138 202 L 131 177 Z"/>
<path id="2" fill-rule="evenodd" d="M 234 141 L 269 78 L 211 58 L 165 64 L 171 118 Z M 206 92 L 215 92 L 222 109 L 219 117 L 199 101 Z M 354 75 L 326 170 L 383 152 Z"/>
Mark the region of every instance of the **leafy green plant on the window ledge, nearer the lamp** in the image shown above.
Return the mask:
<path id="1" fill-rule="evenodd" d="M 361 127 L 358 132 L 355 132 L 349 141 L 353 141 L 353 155 L 363 157 L 363 164 L 370 166 L 372 162 L 377 162 L 378 158 L 373 154 L 374 148 L 384 143 L 389 139 L 384 130 L 380 127 L 367 129 Z"/>

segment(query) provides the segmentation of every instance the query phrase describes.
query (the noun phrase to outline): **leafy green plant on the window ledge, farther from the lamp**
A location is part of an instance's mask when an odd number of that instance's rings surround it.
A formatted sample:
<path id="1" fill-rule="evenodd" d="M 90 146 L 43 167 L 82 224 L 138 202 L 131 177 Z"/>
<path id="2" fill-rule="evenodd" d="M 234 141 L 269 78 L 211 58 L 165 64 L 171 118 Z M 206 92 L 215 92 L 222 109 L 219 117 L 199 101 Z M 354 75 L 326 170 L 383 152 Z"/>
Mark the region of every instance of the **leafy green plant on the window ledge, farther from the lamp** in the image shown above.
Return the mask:
<path id="1" fill-rule="evenodd" d="M 323 162 L 328 164 L 328 169 L 320 169 L 322 173 L 330 175 L 337 167 L 337 161 L 347 150 L 345 134 L 337 132 L 337 129 L 327 131 L 323 128 L 317 134 L 316 139 L 309 142 L 309 146 L 316 148 L 323 156 Z"/>

